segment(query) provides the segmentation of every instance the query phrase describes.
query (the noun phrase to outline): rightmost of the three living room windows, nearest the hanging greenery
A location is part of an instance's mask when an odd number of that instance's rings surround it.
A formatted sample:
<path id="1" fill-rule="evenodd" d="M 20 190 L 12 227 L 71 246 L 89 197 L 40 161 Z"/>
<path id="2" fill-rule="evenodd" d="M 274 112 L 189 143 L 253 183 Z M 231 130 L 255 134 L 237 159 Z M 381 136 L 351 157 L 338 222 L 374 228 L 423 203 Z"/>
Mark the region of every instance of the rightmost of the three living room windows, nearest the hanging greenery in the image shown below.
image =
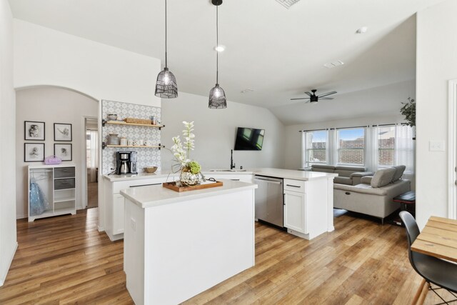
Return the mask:
<path id="1" fill-rule="evenodd" d="M 378 127 L 378 167 L 395 165 L 395 125 Z"/>

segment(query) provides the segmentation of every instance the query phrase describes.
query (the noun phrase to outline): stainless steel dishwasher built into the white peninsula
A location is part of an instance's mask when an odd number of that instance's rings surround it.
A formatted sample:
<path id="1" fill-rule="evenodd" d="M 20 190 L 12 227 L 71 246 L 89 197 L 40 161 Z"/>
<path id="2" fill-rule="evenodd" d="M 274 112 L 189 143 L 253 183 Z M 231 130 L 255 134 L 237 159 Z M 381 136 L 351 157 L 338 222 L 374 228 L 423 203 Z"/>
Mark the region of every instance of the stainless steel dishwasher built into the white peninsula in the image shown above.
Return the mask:
<path id="1" fill-rule="evenodd" d="M 254 176 L 256 219 L 283 228 L 283 179 Z"/>

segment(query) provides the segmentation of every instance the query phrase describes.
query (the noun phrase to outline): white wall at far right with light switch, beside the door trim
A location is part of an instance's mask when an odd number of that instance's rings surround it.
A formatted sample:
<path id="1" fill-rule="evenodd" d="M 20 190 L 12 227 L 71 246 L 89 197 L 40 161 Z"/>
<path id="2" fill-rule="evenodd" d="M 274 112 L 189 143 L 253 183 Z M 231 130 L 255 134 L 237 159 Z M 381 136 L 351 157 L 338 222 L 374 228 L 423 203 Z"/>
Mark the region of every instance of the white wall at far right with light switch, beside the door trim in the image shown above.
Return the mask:
<path id="1" fill-rule="evenodd" d="M 418 12 L 416 109 L 416 216 L 420 227 L 429 216 L 448 216 L 448 81 L 457 79 L 457 1 Z M 446 151 L 428 151 L 443 141 Z"/>

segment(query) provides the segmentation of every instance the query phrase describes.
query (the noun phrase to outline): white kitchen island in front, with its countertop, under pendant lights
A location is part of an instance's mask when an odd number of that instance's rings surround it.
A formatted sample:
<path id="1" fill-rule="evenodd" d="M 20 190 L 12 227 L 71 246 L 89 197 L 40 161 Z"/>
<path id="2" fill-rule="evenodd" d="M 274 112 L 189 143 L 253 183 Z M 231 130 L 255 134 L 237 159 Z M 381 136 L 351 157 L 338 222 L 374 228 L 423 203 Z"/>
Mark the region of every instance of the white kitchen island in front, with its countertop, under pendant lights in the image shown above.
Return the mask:
<path id="1" fill-rule="evenodd" d="M 124 271 L 136 304 L 179 304 L 254 265 L 256 184 L 121 191 Z"/>

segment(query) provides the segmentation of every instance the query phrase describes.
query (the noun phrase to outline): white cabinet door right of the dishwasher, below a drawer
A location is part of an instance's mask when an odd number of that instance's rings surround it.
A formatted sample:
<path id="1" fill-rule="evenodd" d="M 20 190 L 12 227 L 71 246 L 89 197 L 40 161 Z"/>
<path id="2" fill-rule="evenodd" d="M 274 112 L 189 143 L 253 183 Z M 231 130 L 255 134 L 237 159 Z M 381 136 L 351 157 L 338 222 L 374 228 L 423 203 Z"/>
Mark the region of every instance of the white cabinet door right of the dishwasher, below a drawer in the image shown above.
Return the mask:
<path id="1" fill-rule="evenodd" d="M 284 191 L 284 226 L 308 234 L 306 229 L 306 194 Z"/>

